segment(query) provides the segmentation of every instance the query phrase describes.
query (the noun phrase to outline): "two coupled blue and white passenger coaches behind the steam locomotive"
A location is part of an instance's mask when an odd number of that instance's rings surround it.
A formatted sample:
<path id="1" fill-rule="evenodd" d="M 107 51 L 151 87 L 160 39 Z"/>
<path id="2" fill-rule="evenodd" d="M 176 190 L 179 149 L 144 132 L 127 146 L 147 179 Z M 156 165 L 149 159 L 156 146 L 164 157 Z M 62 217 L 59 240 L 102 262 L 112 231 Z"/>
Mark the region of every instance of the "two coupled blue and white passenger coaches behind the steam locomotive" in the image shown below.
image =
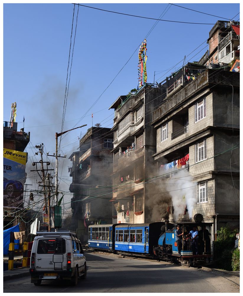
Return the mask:
<path id="1" fill-rule="evenodd" d="M 88 246 L 110 252 L 129 252 L 153 256 L 164 222 L 89 226 Z M 173 224 L 169 224 L 173 226 Z"/>

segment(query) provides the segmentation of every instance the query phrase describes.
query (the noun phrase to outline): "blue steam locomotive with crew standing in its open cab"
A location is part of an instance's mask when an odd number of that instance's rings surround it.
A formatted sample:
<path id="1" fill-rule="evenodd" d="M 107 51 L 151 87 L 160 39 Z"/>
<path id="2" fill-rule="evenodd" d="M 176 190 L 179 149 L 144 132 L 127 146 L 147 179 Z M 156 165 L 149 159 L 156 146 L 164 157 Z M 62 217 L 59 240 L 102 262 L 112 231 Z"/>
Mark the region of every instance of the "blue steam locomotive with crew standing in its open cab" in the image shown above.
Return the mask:
<path id="1" fill-rule="evenodd" d="M 181 255 L 178 254 L 177 243 L 175 240 L 176 227 L 170 227 L 165 224 L 162 227 L 162 235 L 159 237 L 158 247 L 154 248 L 154 255 L 158 256 L 161 260 L 168 260 L 174 263 L 185 264 L 187 266 L 194 266 L 198 260 L 202 261 L 211 260 L 211 242 L 208 228 L 212 226 L 212 223 L 202 222 L 186 222 L 179 224 L 183 229 L 183 241 Z M 204 229 L 206 226 L 206 229 Z M 190 231 L 196 227 L 198 230 L 198 255 L 193 254 L 191 247 Z"/>

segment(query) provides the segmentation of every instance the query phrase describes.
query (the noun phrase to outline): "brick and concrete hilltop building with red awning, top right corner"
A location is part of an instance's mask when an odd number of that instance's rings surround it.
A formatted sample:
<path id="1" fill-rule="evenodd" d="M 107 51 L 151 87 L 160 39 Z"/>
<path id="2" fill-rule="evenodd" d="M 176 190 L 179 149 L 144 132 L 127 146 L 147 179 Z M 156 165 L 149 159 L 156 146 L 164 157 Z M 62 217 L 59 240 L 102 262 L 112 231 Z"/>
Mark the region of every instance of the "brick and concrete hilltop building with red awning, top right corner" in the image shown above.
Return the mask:
<path id="1" fill-rule="evenodd" d="M 218 20 L 209 32 L 207 43 L 209 50 L 198 61 L 198 64 L 229 64 L 239 58 L 239 22 Z M 217 65 L 215 65 L 217 67 Z"/>

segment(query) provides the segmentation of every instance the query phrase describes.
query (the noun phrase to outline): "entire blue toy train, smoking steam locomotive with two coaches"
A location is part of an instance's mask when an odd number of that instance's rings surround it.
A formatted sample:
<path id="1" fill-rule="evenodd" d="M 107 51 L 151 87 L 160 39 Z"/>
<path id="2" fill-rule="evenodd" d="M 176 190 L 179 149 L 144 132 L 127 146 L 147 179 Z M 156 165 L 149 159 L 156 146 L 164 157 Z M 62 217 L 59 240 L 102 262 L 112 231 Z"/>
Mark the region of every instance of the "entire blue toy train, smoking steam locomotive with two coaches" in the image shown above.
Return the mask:
<path id="1" fill-rule="evenodd" d="M 175 240 L 177 224 L 154 222 L 143 224 L 109 224 L 89 226 L 88 247 L 94 250 L 147 255 L 159 260 L 193 266 L 196 260 L 210 260 L 211 243 L 208 229 L 212 223 L 180 223 L 183 229 L 181 257 Z M 191 238 L 187 234 L 198 230 L 198 255 L 193 254 Z M 206 235 L 207 234 L 207 235 Z"/>

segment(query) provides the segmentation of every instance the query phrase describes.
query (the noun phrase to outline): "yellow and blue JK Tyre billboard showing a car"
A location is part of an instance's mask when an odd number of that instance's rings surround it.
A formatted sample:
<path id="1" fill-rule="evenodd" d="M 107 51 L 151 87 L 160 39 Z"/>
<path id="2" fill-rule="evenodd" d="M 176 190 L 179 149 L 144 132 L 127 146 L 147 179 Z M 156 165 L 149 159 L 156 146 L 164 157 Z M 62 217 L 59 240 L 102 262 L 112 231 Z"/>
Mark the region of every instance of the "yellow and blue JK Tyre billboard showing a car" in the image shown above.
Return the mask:
<path id="1" fill-rule="evenodd" d="M 27 153 L 3 149 L 3 206 L 22 208 Z"/>

